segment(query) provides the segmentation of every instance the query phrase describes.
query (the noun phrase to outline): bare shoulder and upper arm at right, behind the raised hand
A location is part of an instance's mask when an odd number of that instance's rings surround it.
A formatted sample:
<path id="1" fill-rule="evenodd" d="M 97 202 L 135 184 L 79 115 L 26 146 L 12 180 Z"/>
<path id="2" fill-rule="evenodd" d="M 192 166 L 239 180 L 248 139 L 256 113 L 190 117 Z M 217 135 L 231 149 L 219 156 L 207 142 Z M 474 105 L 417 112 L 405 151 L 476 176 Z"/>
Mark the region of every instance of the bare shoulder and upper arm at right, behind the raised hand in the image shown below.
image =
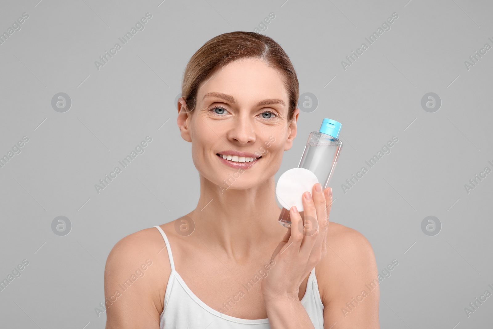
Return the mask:
<path id="1" fill-rule="evenodd" d="M 378 270 L 368 239 L 355 229 L 330 222 L 326 255 L 316 266 L 324 322 L 333 329 L 379 327 Z"/>

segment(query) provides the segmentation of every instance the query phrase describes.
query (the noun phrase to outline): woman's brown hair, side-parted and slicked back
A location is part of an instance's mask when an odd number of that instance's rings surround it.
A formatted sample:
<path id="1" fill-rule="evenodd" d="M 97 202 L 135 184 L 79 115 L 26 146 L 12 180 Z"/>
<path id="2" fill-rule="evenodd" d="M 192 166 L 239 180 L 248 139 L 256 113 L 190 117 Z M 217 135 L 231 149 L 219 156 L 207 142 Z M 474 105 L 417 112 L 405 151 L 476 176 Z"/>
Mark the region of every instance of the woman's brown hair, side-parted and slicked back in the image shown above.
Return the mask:
<path id="1" fill-rule="evenodd" d="M 211 38 L 193 54 L 183 73 L 181 95 L 187 110 L 195 109 L 197 93 L 204 81 L 219 68 L 235 60 L 262 59 L 282 73 L 289 97 L 287 120 L 292 119 L 298 105 L 299 84 L 294 67 L 282 47 L 272 38 L 255 33 L 236 31 Z"/>

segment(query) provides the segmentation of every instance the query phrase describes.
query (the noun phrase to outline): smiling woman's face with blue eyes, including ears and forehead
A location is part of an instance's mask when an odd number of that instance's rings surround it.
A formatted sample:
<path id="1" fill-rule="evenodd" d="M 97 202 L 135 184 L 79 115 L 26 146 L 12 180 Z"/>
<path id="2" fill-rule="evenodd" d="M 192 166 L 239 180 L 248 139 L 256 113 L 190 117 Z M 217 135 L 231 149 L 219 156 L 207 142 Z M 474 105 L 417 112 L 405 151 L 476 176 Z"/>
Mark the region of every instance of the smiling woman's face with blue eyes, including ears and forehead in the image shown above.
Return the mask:
<path id="1" fill-rule="evenodd" d="M 181 137 L 192 143 L 197 170 L 221 191 L 264 184 L 296 136 L 299 109 L 288 123 L 282 75 L 261 60 L 238 60 L 215 73 L 199 88 L 191 113 L 180 101 Z"/>

